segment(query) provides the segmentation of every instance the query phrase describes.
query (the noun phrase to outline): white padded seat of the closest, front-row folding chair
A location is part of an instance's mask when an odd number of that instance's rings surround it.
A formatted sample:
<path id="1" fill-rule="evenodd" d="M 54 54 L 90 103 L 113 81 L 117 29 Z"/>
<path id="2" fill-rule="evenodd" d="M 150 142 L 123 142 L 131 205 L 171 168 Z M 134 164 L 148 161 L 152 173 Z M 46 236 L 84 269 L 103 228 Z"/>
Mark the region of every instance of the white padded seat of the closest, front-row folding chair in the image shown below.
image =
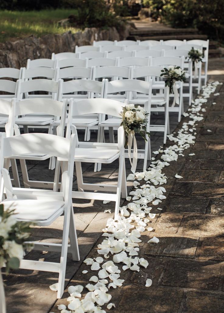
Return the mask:
<path id="1" fill-rule="evenodd" d="M 4 209 L 15 209 L 17 220 L 22 221 L 39 221 L 46 222 L 53 216 L 57 218 L 63 213 L 63 201 L 46 201 L 46 200 L 18 200 L 6 199 L 2 202 Z"/>

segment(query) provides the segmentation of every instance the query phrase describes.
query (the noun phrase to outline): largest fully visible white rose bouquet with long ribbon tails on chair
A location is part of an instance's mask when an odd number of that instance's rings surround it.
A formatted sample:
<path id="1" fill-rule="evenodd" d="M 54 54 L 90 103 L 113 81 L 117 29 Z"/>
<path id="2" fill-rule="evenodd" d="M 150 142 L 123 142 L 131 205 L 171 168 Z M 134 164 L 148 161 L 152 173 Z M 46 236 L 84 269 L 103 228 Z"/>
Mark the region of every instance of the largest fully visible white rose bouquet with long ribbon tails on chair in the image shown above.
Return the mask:
<path id="1" fill-rule="evenodd" d="M 135 173 L 137 166 L 137 141 L 135 134 L 139 134 L 145 141 L 147 141 L 147 136 L 150 137 L 150 133 L 147 131 L 149 113 L 140 105 L 128 104 L 123 107 L 120 115 L 122 117 L 120 126 L 123 126 L 125 131 L 125 147 L 128 147 L 128 156 L 132 165 L 131 171 Z M 134 145 L 133 161 L 131 160 L 132 142 Z"/>

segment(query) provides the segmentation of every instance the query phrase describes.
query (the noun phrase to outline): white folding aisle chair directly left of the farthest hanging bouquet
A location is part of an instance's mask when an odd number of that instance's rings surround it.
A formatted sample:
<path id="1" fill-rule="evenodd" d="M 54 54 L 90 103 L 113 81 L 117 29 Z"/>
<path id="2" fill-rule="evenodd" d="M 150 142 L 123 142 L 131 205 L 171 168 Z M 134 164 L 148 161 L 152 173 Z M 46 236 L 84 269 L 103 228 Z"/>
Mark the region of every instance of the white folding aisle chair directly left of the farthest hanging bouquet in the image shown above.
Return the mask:
<path id="1" fill-rule="evenodd" d="M 185 76 L 189 80 L 188 82 L 183 83 L 183 87 L 188 87 L 189 92 L 183 92 L 183 97 L 189 98 L 189 105 L 191 105 L 192 101 L 192 62 L 188 59 L 188 51 L 187 50 L 181 50 L 181 49 L 175 49 L 175 50 L 166 50 L 164 51 L 165 57 L 184 57 L 184 69 L 185 70 Z"/>

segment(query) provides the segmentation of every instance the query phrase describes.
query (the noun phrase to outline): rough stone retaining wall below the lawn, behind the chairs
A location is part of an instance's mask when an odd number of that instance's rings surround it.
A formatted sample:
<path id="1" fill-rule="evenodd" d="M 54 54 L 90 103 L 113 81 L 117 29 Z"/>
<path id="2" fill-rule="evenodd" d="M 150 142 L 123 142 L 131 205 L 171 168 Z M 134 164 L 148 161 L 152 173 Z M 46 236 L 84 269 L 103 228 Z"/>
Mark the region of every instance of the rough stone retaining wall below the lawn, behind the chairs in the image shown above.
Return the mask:
<path id="1" fill-rule="evenodd" d="M 75 46 L 92 44 L 93 40 L 123 40 L 129 35 L 131 24 L 121 30 L 85 28 L 83 32 L 62 35 L 44 35 L 40 38 L 29 36 L 16 41 L 0 43 L 0 68 L 26 66 L 27 59 L 51 58 L 52 52 L 74 52 Z"/>

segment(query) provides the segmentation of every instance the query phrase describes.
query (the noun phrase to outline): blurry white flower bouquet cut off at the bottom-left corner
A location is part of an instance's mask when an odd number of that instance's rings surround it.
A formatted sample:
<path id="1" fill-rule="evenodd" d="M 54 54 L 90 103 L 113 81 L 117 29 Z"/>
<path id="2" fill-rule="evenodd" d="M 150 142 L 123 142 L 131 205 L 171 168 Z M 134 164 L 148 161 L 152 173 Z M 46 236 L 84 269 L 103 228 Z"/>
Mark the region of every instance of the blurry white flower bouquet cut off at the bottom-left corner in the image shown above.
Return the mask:
<path id="1" fill-rule="evenodd" d="M 0 204 L 0 305 L 2 305 L 0 312 L 2 313 L 6 312 L 6 307 L 1 268 L 6 266 L 7 273 L 9 269 L 19 268 L 24 249 L 28 251 L 32 249 L 31 244 L 25 243 L 29 237 L 30 223 L 18 222 L 14 211 L 9 209 L 4 211 L 3 204 Z"/>

